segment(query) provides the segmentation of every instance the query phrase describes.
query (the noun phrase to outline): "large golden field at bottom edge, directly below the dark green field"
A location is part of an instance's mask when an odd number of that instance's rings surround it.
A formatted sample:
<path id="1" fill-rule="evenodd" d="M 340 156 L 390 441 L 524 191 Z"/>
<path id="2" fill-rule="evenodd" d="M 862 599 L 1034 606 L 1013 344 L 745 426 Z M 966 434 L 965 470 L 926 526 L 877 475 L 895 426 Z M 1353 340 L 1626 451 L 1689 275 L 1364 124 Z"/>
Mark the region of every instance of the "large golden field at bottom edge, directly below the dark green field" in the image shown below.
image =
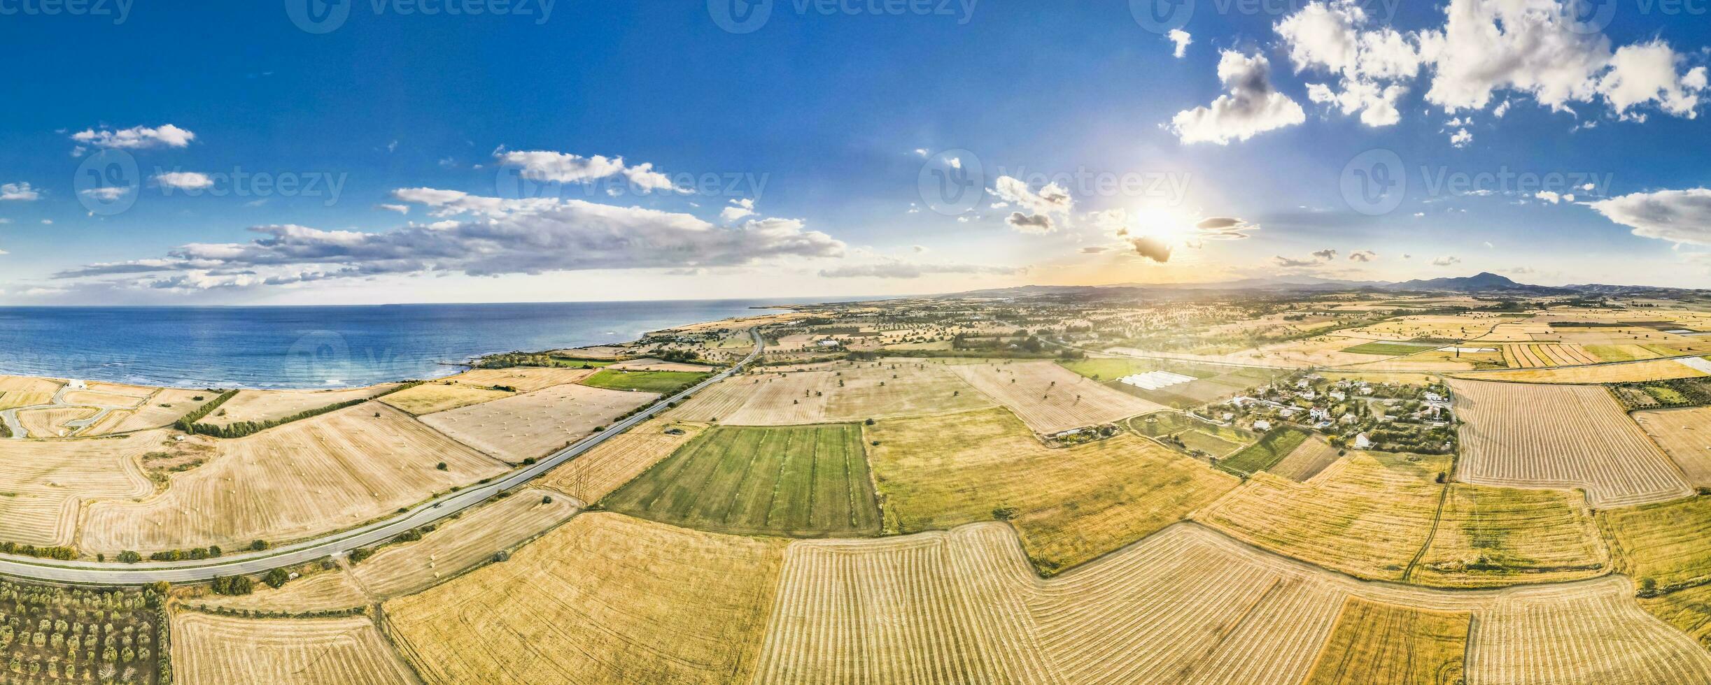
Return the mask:
<path id="1" fill-rule="evenodd" d="M 590 512 L 385 610 L 429 682 L 739 683 L 784 547 Z"/>

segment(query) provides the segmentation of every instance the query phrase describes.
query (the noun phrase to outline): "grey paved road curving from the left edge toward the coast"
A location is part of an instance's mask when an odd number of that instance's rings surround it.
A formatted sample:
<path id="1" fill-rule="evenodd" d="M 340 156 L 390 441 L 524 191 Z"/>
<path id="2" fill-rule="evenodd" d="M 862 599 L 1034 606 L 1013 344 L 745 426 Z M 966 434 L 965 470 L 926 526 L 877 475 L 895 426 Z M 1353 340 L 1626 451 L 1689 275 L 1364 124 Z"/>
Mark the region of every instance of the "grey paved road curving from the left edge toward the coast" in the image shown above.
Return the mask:
<path id="1" fill-rule="evenodd" d="M 29 577 L 38 581 L 51 583 L 74 583 L 74 584 L 144 584 L 154 581 L 168 583 L 193 583 L 207 581 L 214 576 L 236 576 L 236 574 L 260 574 L 282 565 L 296 565 L 322 559 L 327 555 L 339 555 L 358 547 L 368 547 L 376 542 L 392 538 L 394 535 L 404 533 L 411 528 L 426 526 L 459 511 L 474 507 L 498 495 L 503 490 L 517 489 L 542 473 L 551 471 L 554 466 L 577 458 L 578 454 L 594 449 L 594 446 L 606 442 L 613 436 L 630 430 L 636 424 L 652 419 L 655 413 L 664 412 L 666 405 L 679 401 L 691 393 L 696 393 L 713 383 L 725 379 L 734 374 L 739 367 L 753 362 L 760 357 L 761 348 L 767 345 L 758 331 L 755 335 L 755 352 L 743 359 L 737 366 L 719 372 L 669 398 L 660 398 L 647 410 L 607 425 L 606 430 L 594 436 L 583 437 L 582 441 L 559 449 L 553 456 L 548 456 L 534 465 L 512 471 L 500 477 L 486 485 L 467 487 L 459 492 L 452 492 L 424 502 L 409 512 L 399 514 L 390 519 L 376 521 L 356 530 L 347 530 L 344 533 L 334 533 L 329 536 L 305 540 L 291 545 L 275 547 L 267 552 L 253 553 L 233 553 L 221 559 L 195 560 L 195 562 L 142 562 L 142 564 L 99 564 L 99 562 L 56 562 L 33 557 L 19 555 L 0 555 L 0 574 Z"/>

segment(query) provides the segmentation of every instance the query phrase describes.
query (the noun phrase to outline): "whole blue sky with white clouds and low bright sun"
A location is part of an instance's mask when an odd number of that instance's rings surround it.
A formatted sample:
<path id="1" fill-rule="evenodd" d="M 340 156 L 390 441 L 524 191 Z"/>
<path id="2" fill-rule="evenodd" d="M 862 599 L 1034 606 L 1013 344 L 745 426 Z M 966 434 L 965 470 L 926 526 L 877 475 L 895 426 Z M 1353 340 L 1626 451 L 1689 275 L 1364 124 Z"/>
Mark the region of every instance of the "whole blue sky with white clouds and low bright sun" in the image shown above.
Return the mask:
<path id="1" fill-rule="evenodd" d="M 310 2 L 0 2 L 0 302 L 1711 284 L 1711 3 Z"/>

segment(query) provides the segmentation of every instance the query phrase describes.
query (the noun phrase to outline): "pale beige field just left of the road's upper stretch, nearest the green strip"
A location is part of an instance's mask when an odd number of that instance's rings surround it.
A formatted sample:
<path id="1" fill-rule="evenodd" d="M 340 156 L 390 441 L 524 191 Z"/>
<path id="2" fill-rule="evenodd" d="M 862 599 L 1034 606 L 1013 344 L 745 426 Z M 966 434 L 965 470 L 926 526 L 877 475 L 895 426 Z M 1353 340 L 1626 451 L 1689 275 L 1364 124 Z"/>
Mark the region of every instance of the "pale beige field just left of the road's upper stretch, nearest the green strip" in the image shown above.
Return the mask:
<path id="1" fill-rule="evenodd" d="M 659 395 L 558 384 L 421 420 L 500 460 L 520 463 L 571 444 Z"/>

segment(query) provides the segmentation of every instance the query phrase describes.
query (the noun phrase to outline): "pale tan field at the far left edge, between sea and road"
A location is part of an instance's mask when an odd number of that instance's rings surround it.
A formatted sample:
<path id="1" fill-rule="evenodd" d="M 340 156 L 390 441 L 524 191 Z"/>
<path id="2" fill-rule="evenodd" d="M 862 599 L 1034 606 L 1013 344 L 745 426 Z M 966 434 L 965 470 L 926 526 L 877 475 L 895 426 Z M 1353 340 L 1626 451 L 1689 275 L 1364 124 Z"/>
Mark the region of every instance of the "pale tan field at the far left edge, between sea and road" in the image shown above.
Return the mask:
<path id="1" fill-rule="evenodd" d="M 0 542 L 70 545 L 77 516 L 96 499 L 147 497 L 137 460 L 163 449 L 164 430 L 72 441 L 5 441 L 0 460 Z"/>

